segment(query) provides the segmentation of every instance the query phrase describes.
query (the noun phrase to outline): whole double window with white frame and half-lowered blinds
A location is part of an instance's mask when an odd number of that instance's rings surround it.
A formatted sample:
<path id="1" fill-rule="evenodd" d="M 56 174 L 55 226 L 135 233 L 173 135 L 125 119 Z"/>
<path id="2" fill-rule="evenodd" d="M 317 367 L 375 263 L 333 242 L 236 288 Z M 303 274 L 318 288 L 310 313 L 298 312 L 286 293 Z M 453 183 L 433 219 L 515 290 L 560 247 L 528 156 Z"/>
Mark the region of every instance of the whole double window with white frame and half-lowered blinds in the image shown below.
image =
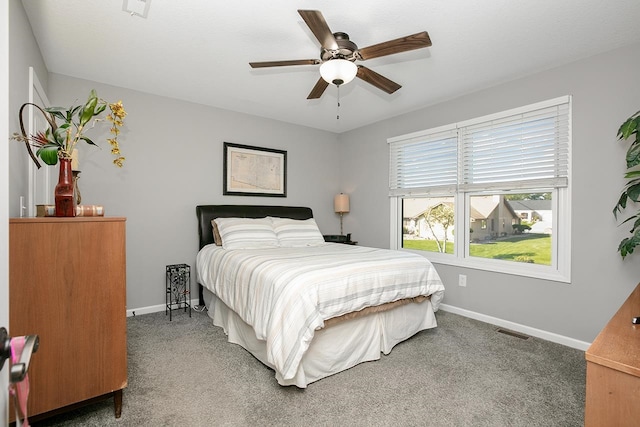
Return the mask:
<path id="1" fill-rule="evenodd" d="M 569 96 L 391 138 L 391 247 L 570 281 Z"/>

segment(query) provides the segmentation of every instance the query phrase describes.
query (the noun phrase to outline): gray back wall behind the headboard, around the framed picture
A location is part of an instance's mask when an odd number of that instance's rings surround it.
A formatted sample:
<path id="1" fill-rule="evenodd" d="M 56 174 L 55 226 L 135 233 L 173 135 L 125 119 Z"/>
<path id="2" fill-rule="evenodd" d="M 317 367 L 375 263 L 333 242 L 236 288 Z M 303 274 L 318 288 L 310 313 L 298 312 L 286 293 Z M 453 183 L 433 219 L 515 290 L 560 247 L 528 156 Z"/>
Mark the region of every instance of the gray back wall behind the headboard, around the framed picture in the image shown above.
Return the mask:
<path id="1" fill-rule="evenodd" d="M 164 302 L 166 265 L 189 264 L 195 276 L 198 204 L 310 206 L 324 233 L 338 231 L 333 195 L 342 189 L 335 134 L 49 75 L 53 105 L 84 101 L 92 88 L 110 102 L 121 99 L 128 113 L 119 139 L 125 166 L 112 165 L 108 126 L 97 126 L 90 135 L 101 148 L 80 146 L 79 184 L 83 204 L 127 217 L 129 309 Z M 224 141 L 286 150 L 287 197 L 223 196 Z"/>

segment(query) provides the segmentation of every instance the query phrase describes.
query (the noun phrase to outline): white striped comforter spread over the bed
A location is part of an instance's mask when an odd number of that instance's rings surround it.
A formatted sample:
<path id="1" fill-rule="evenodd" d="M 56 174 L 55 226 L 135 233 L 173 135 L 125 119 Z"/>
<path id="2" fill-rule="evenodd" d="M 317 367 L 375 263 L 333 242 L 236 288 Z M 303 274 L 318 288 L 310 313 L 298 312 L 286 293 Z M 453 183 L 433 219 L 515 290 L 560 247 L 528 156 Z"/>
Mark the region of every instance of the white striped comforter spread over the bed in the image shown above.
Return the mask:
<path id="1" fill-rule="evenodd" d="M 324 321 L 444 286 L 433 265 L 408 252 L 327 243 L 304 248 L 225 250 L 197 255 L 198 282 L 216 294 L 266 341 L 267 357 L 290 379 Z"/>

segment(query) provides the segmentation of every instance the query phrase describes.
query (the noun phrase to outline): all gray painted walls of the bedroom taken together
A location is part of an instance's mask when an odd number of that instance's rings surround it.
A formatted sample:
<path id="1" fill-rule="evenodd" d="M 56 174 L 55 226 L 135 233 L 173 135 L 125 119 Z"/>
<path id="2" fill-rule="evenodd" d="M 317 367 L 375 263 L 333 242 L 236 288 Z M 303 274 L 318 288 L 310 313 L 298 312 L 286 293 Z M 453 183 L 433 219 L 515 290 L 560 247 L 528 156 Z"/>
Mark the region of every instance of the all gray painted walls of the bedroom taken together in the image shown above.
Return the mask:
<path id="1" fill-rule="evenodd" d="M 121 138 L 123 169 L 111 165 L 106 129 L 92 135 L 102 147 L 81 147 L 83 203 L 102 204 L 127 221 L 127 307 L 164 302 L 164 266 L 194 264 L 194 207 L 201 203 L 306 205 L 320 228 L 337 233 L 334 194 L 351 195 L 345 231 L 362 245 L 389 246 L 386 139 L 529 103 L 573 95 L 572 283 L 563 284 L 436 265 L 445 303 L 532 328 L 591 341 L 640 277 L 635 258 L 616 252 L 625 236 L 611 210 L 623 186 L 625 146 L 620 123 L 640 106 L 640 46 L 609 52 L 468 94 L 339 136 L 273 120 L 106 86 L 46 69 L 20 2 L 10 2 L 10 132 L 27 99 L 27 68 L 35 66 L 53 104 L 84 100 L 91 88 L 122 99 L 129 112 Z M 222 196 L 223 141 L 288 151 L 288 197 Z M 9 215 L 26 192 L 28 159 L 10 144 Z M 466 288 L 457 276 L 468 276 Z"/>

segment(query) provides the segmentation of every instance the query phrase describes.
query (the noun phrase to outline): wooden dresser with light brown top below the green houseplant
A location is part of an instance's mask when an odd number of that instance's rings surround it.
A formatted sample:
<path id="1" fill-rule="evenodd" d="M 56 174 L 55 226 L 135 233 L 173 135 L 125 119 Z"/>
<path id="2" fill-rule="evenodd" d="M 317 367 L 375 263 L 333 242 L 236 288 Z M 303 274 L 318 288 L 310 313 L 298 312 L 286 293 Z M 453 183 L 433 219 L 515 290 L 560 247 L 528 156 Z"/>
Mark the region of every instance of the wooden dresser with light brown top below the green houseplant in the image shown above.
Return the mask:
<path id="1" fill-rule="evenodd" d="M 640 285 L 585 353 L 585 426 L 640 425 Z"/>

